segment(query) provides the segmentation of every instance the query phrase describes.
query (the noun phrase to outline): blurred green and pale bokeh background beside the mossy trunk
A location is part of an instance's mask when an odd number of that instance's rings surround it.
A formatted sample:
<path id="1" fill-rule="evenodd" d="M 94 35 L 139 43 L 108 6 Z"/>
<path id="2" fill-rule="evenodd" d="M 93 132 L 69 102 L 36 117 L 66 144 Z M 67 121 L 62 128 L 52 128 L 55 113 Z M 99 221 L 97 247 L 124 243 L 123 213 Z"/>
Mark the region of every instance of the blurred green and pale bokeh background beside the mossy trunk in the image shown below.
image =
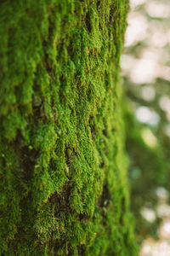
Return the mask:
<path id="1" fill-rule="evenodd" d="M 170 0 L 131 0 L 122 77 L 139 256 L 170 256 Z"/>

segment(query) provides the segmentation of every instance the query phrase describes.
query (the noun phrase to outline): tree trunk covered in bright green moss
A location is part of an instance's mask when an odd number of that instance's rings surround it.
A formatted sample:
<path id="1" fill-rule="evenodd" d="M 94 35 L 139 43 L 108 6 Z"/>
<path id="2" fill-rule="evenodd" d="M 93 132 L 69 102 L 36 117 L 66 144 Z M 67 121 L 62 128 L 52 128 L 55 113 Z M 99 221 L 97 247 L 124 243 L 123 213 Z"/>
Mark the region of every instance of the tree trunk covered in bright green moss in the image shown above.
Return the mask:
<path id="1" fill-rule="evenodd" d="M 136 255 L 119 84 L 127 9 L 0 3 L 0 255 Z"/>

